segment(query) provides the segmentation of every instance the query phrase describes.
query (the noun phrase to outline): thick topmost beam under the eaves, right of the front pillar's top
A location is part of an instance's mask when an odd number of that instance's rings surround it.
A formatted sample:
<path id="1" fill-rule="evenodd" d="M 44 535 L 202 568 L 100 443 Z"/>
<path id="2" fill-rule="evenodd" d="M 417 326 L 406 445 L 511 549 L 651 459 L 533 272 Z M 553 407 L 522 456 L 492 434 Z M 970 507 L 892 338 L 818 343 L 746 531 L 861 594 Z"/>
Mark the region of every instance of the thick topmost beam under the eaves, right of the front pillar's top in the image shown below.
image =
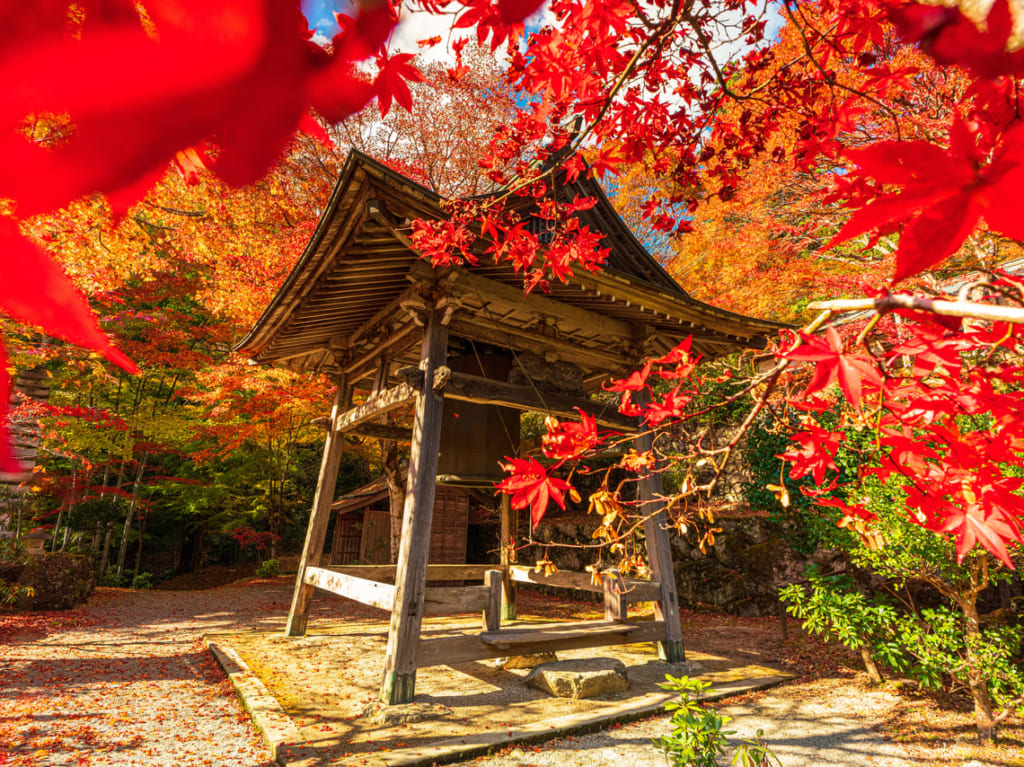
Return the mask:
<path id="1" fill-rule="evenodd" d="M 521 285 L 513 287 L 463 270 L 458 272 L 450 290 L 456 295 L 476 298 L 484 308 L 492 305 L 502 311 L 528 311 L 542 319 L 552 319 L 562 326 L 561 330 L 582 330 L 588 334 L 617 339 L 623 344 L 629 344 L 633 339 L 633 329 L 629 323 L 538 293 L 526 294 Z"/>

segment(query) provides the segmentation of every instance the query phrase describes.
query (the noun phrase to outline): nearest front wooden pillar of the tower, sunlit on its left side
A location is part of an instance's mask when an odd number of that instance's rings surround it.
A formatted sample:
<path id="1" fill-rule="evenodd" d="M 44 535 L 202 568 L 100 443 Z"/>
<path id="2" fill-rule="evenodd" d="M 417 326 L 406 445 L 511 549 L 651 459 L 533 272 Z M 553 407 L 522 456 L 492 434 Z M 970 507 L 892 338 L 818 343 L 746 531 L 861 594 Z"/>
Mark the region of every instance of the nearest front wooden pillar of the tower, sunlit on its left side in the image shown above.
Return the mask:
<path id="1" fill-rule="evenodd" d="M 424 383 L 416 397 L 394 606 L 391 609 L 384 679 L 380 690 L 380 699 L 388 706 L 410 704 L 416 694 L 416 647 L 423 624 L 430 523 L 437 482 L 437 450 L 444 398 L 433 390 L 432 384 L 434 371 L 444 365 L 447 353 L 447 327 L 441 324 L 441 312 L 436 309 L 429 312 L 425 325 L 420 347 Z"/>

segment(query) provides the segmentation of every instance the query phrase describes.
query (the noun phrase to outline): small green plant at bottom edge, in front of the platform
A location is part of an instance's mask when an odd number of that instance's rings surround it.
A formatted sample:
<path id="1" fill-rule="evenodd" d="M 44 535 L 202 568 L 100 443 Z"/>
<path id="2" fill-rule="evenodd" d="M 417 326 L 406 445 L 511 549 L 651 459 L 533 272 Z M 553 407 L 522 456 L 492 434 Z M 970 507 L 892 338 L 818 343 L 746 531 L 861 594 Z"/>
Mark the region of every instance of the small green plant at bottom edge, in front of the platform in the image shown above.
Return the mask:
<path id="1" fill-rule="evenodd" d="M 654 748 L 665 754 L 671 767 L 717 767 L 719 757 L 725 754 L 731 730 L 722 728 L 732 721 L 731 717 L 720 716 L 706 709 L 699 697 L 710 682 L 689 677 L 666 676 L 658 686 L 679 693 L 679 701 L 670 700 L 666 711 L 675 712 L 670 724 L 672 732 L 654 739 Z M 770 767 L 779 761 L 762 740 L 763 733 L 743 740 L 737 748 L 732 764 L 738 767 Z"/>

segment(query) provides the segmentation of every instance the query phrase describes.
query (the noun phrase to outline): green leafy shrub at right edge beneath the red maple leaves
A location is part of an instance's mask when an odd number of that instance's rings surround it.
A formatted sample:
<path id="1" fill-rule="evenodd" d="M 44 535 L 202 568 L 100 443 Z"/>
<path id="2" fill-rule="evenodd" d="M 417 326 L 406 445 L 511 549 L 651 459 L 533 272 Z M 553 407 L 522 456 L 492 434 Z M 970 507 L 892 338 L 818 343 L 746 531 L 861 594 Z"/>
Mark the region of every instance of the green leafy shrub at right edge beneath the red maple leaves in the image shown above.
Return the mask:
<path id="1" fill-rule="evenodd" d="M 828 429 L 844 423 L 836 408 L 814 418 Z M 766 421 L 752 432 L 748 456 L 755 482 L 748 485 L 746 495 L 783 522 L 795 549 L 841 550 L 857 568 L 851 572 L 870 573 L 870 589 L 885 598 L 868 597 L 849 579 L 814 576 L 806 590 L 788 587 L 780 596 L 809 631 L 859 651 L 873 679 L 881 680 L 881 664 L 926 687 L 966 690 L 974 702 L 979 737 L 990 740 L 999 722 L 1024 700 L 1019 697 L 1024 695 L 1022 667 L 1014 649 L 1020 630 L 983 629 L 979 614 L 982 592 L 1008 578 L 1009 570 L 980 547 L 957 559 L 952 540 L 913 523 L 902 480 L 894 476 L 883 481 L 862 471 L 892 459 L 880 456 L 877 432 L 857 419 L 845 423 L 829 497 L 863 509 L 871 516 L 869 524 L 843 517 L 827 505 L 827 498 L 814 503 L 801 492 L 810 476 L 786 476 L 777 456 L 788 430 L 798 425 L 794 420 Z M 986 425 L 982 417 L 957 419 L 963 431 Z M 1020 466 L 1005 467 L 1008 476 L 1022 471 Z M 787 504 L 778 503 L 778 498 Z M 1014 547 L 1010 556 L 1022 561 L 1024 551 Z"/>

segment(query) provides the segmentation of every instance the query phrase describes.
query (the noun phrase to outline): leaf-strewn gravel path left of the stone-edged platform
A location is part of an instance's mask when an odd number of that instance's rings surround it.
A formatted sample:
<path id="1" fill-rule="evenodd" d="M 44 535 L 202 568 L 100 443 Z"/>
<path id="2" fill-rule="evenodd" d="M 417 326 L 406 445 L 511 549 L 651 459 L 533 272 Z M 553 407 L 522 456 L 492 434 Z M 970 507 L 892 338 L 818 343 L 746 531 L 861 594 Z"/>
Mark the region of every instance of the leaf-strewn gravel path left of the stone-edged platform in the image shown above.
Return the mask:
<path id="1" fill-rule="evenodd" d="M 100 589 L 71 614 L 5 616 L 0 765 L 272 764 L 200 638 L 280 625 L 289 593 Z"/>

